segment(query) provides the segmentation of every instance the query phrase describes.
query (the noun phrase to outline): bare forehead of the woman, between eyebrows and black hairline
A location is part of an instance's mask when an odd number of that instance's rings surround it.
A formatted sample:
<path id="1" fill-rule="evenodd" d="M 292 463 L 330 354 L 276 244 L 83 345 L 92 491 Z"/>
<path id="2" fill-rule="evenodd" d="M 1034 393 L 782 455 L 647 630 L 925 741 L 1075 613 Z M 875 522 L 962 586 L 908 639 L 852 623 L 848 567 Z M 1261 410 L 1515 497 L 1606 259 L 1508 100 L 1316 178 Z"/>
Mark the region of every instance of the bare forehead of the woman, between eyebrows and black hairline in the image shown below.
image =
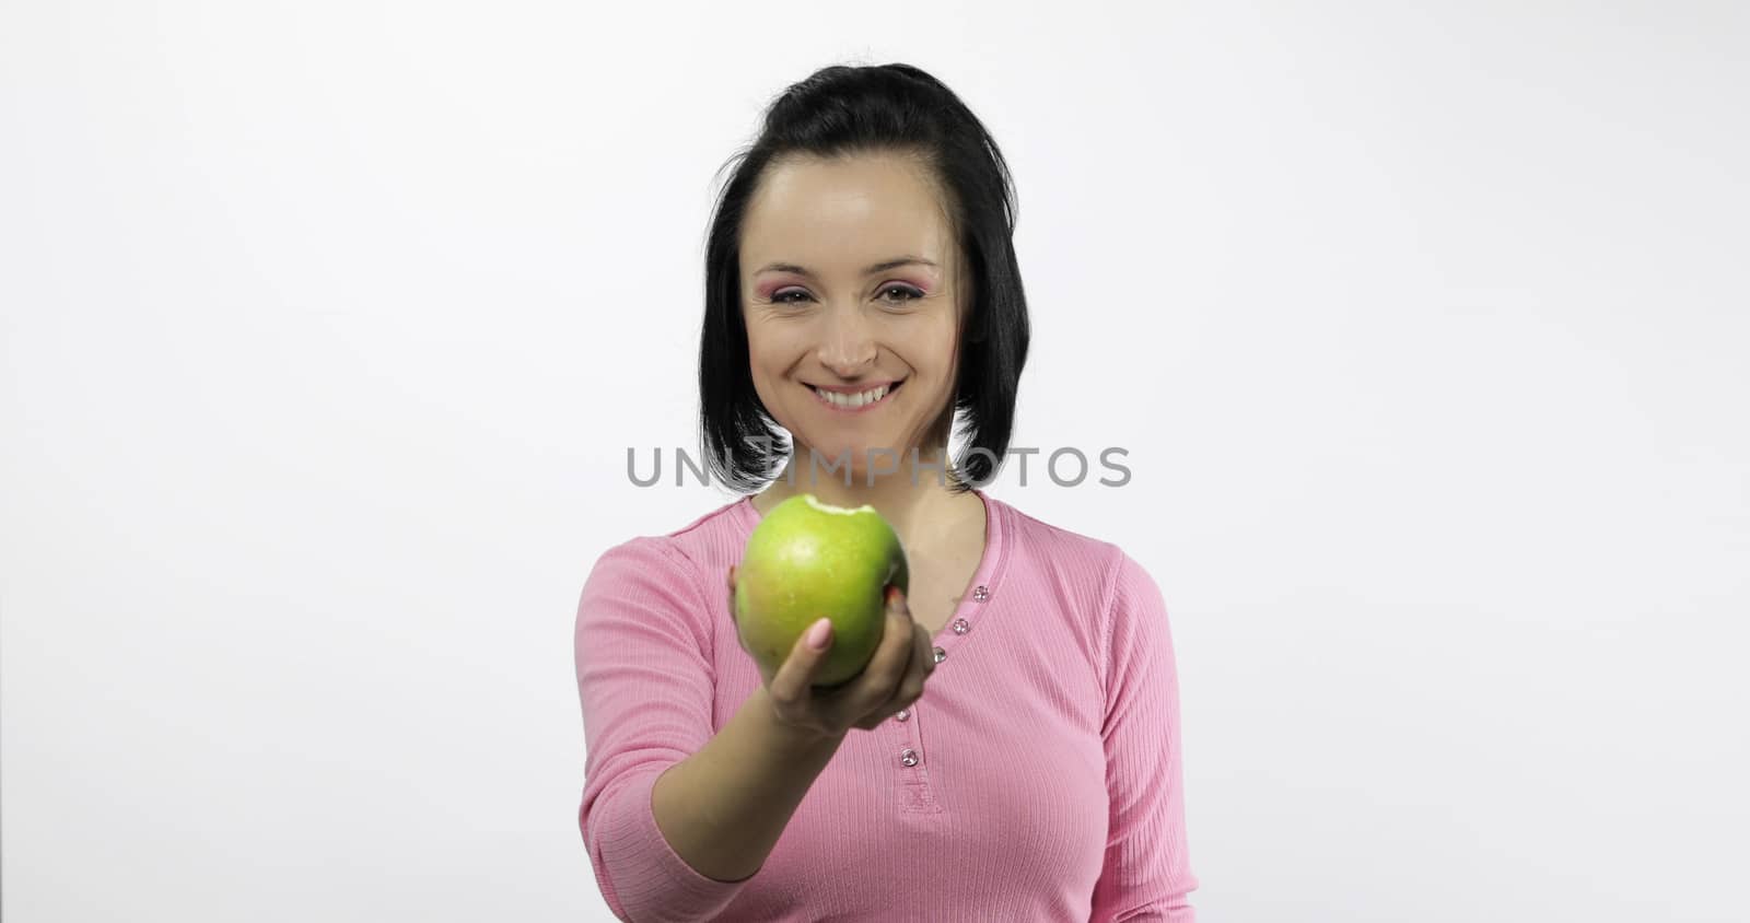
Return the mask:
<path id="1" fill-rule="evenodd" d="M 928 168 L 910 157 L 793 157 L 766 168 L 742 224 L 742 267 L 794 262 L 856 274 L 898 253 L 952 259 Z"/>

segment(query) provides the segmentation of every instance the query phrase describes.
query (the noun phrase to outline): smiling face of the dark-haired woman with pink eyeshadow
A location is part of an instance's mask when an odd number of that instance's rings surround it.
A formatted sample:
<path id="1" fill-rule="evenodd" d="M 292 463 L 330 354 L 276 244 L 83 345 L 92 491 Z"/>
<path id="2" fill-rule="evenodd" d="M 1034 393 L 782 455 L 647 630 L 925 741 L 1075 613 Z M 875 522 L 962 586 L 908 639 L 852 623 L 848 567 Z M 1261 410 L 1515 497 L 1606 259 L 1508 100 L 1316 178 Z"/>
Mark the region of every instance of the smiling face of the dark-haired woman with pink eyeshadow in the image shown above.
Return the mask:
<path id="1" fill-rule="evenodd" d="M 872 458 L 877 472 L 910 470 L 914 446 L 928 458 L 961 315 L 959 248 L 928 168 L 898 154 L 775 161 L 740 243 L 754 390 L 796 449 L 819 453 L 822 477 L 844 453 L 856 472 Z"/>

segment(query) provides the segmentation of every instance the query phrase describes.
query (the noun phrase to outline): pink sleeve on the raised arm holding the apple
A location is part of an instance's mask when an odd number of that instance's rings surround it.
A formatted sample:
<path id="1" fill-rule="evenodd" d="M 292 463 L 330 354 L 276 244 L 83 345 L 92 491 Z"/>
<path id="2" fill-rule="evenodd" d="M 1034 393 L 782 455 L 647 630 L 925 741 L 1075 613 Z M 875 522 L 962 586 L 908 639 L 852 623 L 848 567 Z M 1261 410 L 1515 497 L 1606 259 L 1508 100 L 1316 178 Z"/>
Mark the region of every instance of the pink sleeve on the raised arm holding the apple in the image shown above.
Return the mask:
<path id="1" fill-rule="evenodd" d="M 698 874 L 651 809 L 656 776 L 712 736 L 709 612 L 696 568 L 665 537 L 604 552 L 578 601 L 578 825 L 602 897 L 632 923 L 710 920 L 744 886 Z"/>

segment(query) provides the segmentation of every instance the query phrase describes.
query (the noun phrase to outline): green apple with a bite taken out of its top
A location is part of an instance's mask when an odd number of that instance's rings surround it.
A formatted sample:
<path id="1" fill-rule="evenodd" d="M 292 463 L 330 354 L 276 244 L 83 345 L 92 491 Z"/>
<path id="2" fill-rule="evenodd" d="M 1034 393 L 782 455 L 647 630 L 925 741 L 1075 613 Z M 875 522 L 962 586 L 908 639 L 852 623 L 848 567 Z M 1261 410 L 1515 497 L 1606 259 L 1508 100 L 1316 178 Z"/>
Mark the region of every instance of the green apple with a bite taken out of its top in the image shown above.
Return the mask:
<path id="1" fill-rule="evenodd" d="M 831 619 L 833 645 L 814 685 L 838 685 L 861 673 L 880 645 L 887 584 L 910 589 L 905 549 L 875 507 L 791 496 L 747 537 L 735 568 L 735 628 L 772 677 L 808 626 Z"/>

